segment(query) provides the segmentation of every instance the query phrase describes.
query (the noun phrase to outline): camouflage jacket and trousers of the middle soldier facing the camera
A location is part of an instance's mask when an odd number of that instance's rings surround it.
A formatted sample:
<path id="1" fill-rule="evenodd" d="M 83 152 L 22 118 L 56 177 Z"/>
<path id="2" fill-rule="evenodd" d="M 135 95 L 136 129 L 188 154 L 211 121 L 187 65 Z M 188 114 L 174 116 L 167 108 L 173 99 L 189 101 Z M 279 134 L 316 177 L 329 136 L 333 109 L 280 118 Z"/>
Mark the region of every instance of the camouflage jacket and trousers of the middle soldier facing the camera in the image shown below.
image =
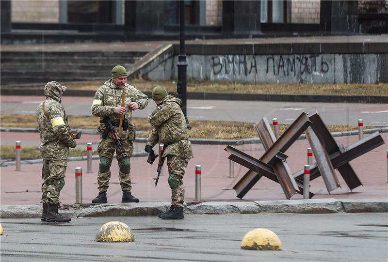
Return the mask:
<path id="1" fill-rule="evenodd" d="M 120 134 L 120 142 L 126 159 L 122 159 L 122 155 L 117 153 L 118 148 L 116 148 L 115 140 L 112 138 L 111 134 L 105 139 L 102 138 L 102 133 L 106 126 L 104 123 L 100 123 L 97 128 L 100 133 L 97 151 L 101 158 L 100 161 L 109 159 L 109 163 L 106 164 L 108 166 L 107 170 L 100 170 L 101 168 L 98 170 L 97 180 L 98 190 L 100 192 L 106 192 L 109 187 L 109 180 L 111 178 L 110 166 L 112 164 L 114 151 L 116 151 L 116 158 L 119 162 L 119 180 L 121 189 L 123 191 L 130 191 L 131 189 L 130 168 L 122 169 L 123 161 L 128 161 L 127 164 L 129 165 L 129 157 L 131 157 L 133 153 L 133 140 L 135 140 L 136 131 L 135 125 L 131 123 L 132 110 L 128 107 L 128 104 L 130 102 L 136 102 L 139 104 L 139 109 L 143 109 L 148 104 L 148 97 L 129 84 L 125 84 L 123 88 L 115 85 L 113 78 L 111 78 L 97 90 L 93 100 L 92 114 L 94 116 L 99 116 L 101 119 L 105 116 L 109 116 L 113 126 L 118 132 L 120 115 L 114 112 L 114 107 L 121 105 L 122 90 L 125 92 L 124 107 L 127 108 L 127 112 L 123 115 L 123 120 L 126 119 L 129 123 L 128 130 L 124 131 L 122 129 Z"/>

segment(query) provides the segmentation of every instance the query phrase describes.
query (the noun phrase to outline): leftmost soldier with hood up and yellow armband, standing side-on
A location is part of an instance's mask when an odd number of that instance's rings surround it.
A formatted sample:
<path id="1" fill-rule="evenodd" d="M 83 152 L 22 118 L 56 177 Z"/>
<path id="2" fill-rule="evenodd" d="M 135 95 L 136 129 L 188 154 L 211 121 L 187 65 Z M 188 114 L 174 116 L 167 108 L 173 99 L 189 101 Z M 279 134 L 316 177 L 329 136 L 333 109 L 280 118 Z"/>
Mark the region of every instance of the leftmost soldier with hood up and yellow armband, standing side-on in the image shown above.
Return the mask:
<path id="1" fill-rule="evenodd" d="M 59 194 L 65 185 L 67 156 L 69 147 L 75 148 L 77 143 L 71 137 L 65 108 L 61 104 L 65 86 L 51 81 L 45 86 L 45 102 L 36 111 L 39 134 L 42 144 L 40 153 L 43 157 L 42 168 L 42 221 L 69 222 L 70 217 L 58 213 Z"/>

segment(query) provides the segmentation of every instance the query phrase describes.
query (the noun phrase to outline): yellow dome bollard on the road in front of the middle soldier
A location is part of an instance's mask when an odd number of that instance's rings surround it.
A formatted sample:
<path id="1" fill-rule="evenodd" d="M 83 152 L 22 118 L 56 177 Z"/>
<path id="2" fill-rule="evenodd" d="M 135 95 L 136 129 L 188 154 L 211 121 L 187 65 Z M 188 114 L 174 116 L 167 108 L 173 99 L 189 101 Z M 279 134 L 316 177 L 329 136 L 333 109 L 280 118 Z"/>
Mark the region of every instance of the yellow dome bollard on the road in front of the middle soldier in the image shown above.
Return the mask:
<path id="1" fill-rule="evenodd" d="M 105 223 L 96 235 L 97 242 L 133 242 L 135 236 L 126 224 L 119 221 Z"/>

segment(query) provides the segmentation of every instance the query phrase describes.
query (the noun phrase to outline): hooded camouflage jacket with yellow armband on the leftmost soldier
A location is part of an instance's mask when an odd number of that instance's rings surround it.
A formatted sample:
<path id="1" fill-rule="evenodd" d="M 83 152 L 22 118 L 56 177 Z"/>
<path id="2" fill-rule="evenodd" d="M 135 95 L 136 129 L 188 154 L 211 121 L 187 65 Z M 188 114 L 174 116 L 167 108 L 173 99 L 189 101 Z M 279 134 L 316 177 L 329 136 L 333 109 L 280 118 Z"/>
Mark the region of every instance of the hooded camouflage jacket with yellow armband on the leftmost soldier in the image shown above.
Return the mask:
<path id="1" fill-rule="evenodd" d="M 58 159 L 66 161 L 69 147 L 76 147 L 77 143 L 69 135 L 70 126 L 67 122 L 65 108 L 61 104 L 65 87 L 52 81 L 45 86 L 46 100 L 36 110 L 39 126 L 40 153 L 44 159 Z"/>

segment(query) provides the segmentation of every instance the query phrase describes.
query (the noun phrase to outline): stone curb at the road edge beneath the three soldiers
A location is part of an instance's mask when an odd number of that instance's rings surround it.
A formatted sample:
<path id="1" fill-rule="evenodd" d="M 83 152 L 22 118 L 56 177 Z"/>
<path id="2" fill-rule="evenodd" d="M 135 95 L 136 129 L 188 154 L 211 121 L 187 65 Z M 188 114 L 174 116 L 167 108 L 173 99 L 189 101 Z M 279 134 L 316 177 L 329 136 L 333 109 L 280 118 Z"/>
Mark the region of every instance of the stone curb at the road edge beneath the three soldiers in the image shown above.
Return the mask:
<path id="1" fill-rule="evenodd" d="M 169 209 L 170 202 L 144 203 L 108 203 L 108 204 L 65 204 L 61 212 L 76 217 L 97 216 L 157 216 Z M 259 214 L 259 213 L 294 213 L 294 214 L 329 214 L 329 213 L 365 213 L 388 212 L 387 200 L 273 200 L 273 201 L 210 201 L 187 203 L 185 213 L 204 214 Z M 4 205 L 1 206 L 0 218 L 37 218 L 42 213 L 41 205 Z"/>

